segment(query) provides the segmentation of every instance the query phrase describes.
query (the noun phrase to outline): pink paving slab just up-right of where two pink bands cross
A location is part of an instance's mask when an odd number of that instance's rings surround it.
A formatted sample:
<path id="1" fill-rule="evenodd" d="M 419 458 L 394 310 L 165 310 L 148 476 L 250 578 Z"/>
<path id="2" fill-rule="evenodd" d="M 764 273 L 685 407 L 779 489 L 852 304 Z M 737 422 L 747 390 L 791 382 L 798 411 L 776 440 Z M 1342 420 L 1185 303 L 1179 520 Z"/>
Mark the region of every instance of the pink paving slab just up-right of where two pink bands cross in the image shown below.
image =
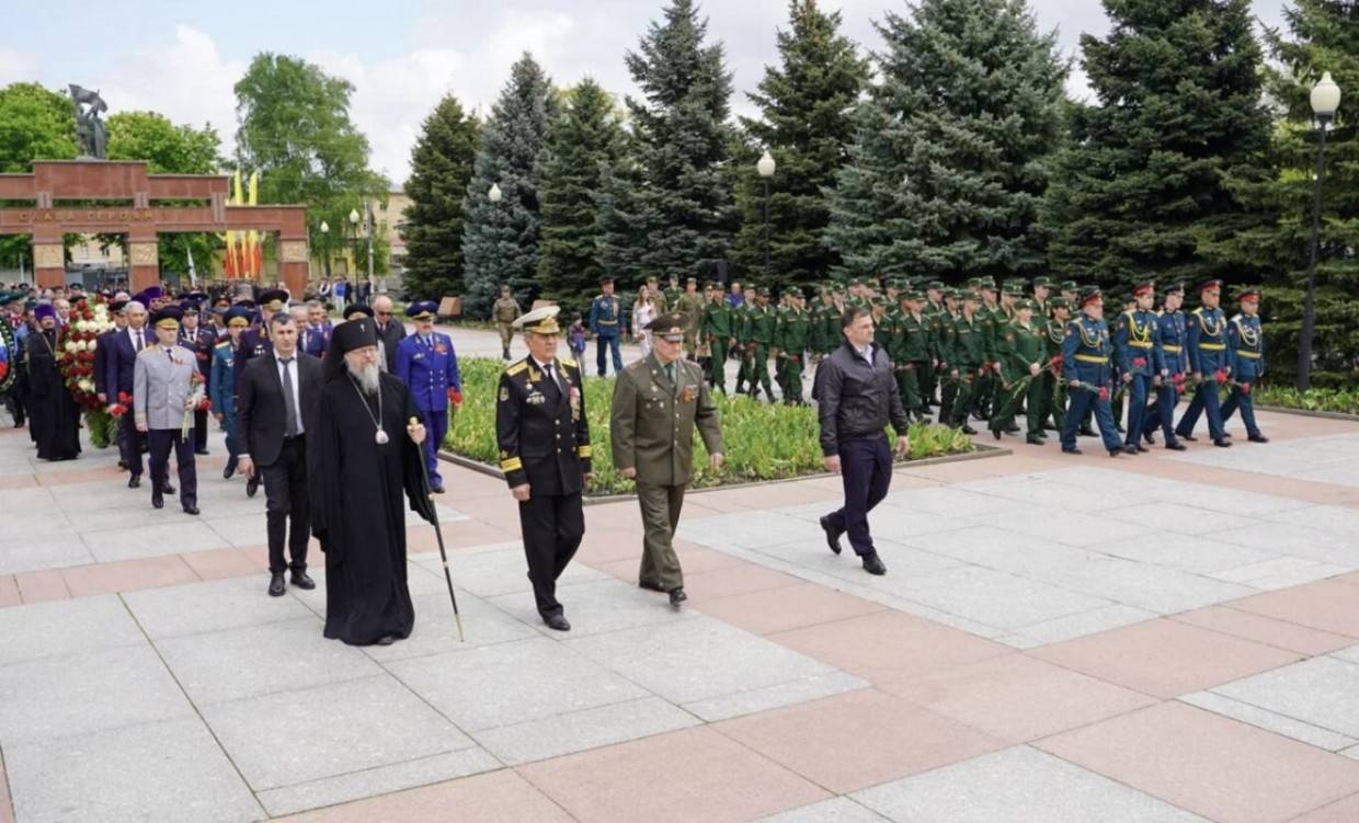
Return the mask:
<path id="1" fill-rule="evenodd" d="M 1026 652 L 1162 698 L 1230 683 L 1302 659 L 1296 652 L 1159 619 Z"/>

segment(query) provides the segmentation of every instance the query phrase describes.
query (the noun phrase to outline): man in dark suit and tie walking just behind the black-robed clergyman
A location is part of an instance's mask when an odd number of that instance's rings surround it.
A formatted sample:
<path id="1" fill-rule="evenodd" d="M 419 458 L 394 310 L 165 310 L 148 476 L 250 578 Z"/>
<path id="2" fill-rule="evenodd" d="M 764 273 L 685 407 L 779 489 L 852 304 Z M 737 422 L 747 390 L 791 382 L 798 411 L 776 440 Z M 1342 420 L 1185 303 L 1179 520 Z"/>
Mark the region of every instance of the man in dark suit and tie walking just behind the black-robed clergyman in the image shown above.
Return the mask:
<path id="1" fill-rule="evenodd" d="M 307 574 L 307 429 L 317 420 L 321 360 L 298 350 L 298 323 L 287 312 L 270 319 L 269 341 L 270 350 L 254 357 L 236 382 L 236 431 L 245 450 L 241 471 L 264 478 L 269 595 L 279 598 L 284 592 L 284 569 L 292 570 L 292 585 L 317 587 Z M 285 536 L 291 564 L 284 564 Z"/>

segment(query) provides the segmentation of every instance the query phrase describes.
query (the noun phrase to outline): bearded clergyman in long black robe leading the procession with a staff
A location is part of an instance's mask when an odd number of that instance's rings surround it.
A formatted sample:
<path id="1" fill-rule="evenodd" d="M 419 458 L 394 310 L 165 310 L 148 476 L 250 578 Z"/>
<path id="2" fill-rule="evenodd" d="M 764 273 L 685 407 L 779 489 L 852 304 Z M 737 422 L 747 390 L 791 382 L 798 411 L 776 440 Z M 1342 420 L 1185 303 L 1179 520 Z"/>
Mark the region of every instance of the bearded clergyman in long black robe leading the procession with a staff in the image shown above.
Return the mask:
<path id="1" fill-rule="evenodd" d="M 381 369 L 370 318 L 340 323 L 325 359 L 317 432 L 307 432 L 311 531 L 326 555 L 325 636 L 387 645 L 410 636 L 405 508 L 429 523 L 419 424 L 401 380 Z"/>

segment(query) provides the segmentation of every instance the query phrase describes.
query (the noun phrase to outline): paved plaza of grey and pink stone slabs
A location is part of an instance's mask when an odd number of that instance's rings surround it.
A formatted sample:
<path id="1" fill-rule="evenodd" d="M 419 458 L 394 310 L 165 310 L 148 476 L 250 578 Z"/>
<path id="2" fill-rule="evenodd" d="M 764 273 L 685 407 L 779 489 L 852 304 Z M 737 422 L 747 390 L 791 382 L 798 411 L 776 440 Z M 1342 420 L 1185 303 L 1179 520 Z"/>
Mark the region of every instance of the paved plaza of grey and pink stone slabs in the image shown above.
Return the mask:
<path id="1" fill-rule="evenodd" d="M 900 469 L 885 577 L 826 550 L 839 478 L 696 493 L 682 612 L 636 585 L 636 504 L 593 505 L 565 634 L 504 482 L 450 466 L 466 642 L 412 516 L 414 633 L 364 649 L 323 585 L 266 596 L 220 435 L 189 517 L 4 429 L 0 820 L 1352 823 L 1359 424 L 1260 421 Z"/>

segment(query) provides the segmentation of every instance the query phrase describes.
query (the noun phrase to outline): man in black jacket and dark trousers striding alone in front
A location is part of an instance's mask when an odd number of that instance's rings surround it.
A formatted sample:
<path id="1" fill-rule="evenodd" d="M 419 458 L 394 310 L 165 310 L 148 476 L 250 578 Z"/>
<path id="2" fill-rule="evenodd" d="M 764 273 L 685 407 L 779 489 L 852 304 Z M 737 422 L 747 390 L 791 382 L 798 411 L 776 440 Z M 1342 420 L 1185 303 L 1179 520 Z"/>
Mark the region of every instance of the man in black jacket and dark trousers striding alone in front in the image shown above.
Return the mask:
<path id="1" fill-rule="evenodd" d="M 892 360 L 872 342 L 872 315 L 867 308 L 845 310 L 840 319 L 844 342 L 817 369 L 814 397 L 821 417 L 821 454 L 828 471 L 844 478 L 845 504 L 821 519 L 830 550 L 840 554 L 840 535 L 870 574 L 886 574 L 868 534 L 868 512 L 882 502 L 892 483 L 892 450 L 883 429 L 897 431 L 897 454 L 911 448 L 906 417 Z"/>

